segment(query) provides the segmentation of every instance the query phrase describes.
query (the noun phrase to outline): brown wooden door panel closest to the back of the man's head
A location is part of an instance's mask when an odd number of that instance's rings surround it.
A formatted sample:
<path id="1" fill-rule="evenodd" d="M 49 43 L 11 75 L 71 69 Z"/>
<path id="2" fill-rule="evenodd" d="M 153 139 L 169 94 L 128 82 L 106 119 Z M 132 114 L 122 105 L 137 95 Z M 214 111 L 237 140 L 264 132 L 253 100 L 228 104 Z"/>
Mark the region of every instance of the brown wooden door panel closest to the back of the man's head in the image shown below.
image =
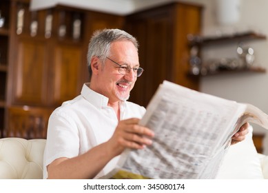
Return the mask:
<path id="1" fill-rule="evenodd" d="M 61 105 L 81 91 L 82 48 L 79 45 L 56 45 L 54 58 L 54 103 Z"/>

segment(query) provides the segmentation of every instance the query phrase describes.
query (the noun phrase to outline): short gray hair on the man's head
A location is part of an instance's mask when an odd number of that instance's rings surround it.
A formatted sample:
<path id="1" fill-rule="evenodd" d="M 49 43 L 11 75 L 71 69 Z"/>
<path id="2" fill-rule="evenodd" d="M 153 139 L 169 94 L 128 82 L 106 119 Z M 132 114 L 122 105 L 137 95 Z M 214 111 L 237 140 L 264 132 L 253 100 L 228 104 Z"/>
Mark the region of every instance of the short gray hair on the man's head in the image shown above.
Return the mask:
<path id="1" fill-rule="evenodd" d="M 104 29 L 97 30 L 92 35 L 90 43 L 87 50 L 87 65 L 90 72 L 90 77 L 92 75 L 91 70 L 91 59 L 92 57 L 99 57 L 101 61 L 104 61 L 106 57 L 110 54 L 110 45 L 114 41 L 127 40 L 131 41 L 138 51 L 138 41 L 131 34 L 123 30 L 118 29 Z"/>

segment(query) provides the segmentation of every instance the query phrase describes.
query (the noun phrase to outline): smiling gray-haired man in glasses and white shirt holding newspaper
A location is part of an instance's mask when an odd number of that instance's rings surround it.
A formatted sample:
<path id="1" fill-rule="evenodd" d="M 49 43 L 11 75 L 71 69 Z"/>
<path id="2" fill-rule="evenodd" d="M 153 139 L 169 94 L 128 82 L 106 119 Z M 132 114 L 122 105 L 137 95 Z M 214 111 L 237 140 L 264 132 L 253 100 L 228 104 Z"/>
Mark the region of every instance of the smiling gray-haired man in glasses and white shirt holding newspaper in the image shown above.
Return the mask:
<path id="1" fill-rule="evenodd" d="M 50 116 L 45 179 L 98 178 L 115 167 L 125 148 L 152 144 L 154 132 L 138 125 L 145 108 L 127 101 L 143 73 L 136 39 L 123 30 L 97 31 L 90 40 L 87 62 L 90 83 Z M 244 125 L 233 142 L 245 139 L 247 132 Z"/>

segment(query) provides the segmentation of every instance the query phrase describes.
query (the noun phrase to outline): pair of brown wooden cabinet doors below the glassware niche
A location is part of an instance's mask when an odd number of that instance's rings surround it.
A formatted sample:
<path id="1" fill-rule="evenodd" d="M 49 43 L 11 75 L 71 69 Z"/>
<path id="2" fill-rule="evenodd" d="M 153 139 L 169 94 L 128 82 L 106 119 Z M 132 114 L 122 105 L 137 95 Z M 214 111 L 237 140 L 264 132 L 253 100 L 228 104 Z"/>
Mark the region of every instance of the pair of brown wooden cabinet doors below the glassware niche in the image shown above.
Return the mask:
<path id="1" fill-rule="evenodd" d="M 14 105 L 61 105 L 80 92 L 83 45 L 19 38 L 14 63 Z"/>

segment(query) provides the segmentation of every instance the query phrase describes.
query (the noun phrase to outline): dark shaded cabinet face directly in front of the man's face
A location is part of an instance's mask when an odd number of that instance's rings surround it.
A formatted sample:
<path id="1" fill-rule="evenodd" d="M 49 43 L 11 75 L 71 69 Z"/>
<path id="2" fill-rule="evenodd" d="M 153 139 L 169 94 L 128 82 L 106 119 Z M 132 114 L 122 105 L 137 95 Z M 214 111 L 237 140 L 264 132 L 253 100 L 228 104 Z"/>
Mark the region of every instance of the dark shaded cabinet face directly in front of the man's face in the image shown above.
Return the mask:
<path id="1" fill-rule="evenodd" d="M 138 78 L 130 101 L 146 106 L 163 80 L 172 81 L 173 9 L 161 7 L 127 17 L 126 30 L 138 39 L 144 74 Z"/>

